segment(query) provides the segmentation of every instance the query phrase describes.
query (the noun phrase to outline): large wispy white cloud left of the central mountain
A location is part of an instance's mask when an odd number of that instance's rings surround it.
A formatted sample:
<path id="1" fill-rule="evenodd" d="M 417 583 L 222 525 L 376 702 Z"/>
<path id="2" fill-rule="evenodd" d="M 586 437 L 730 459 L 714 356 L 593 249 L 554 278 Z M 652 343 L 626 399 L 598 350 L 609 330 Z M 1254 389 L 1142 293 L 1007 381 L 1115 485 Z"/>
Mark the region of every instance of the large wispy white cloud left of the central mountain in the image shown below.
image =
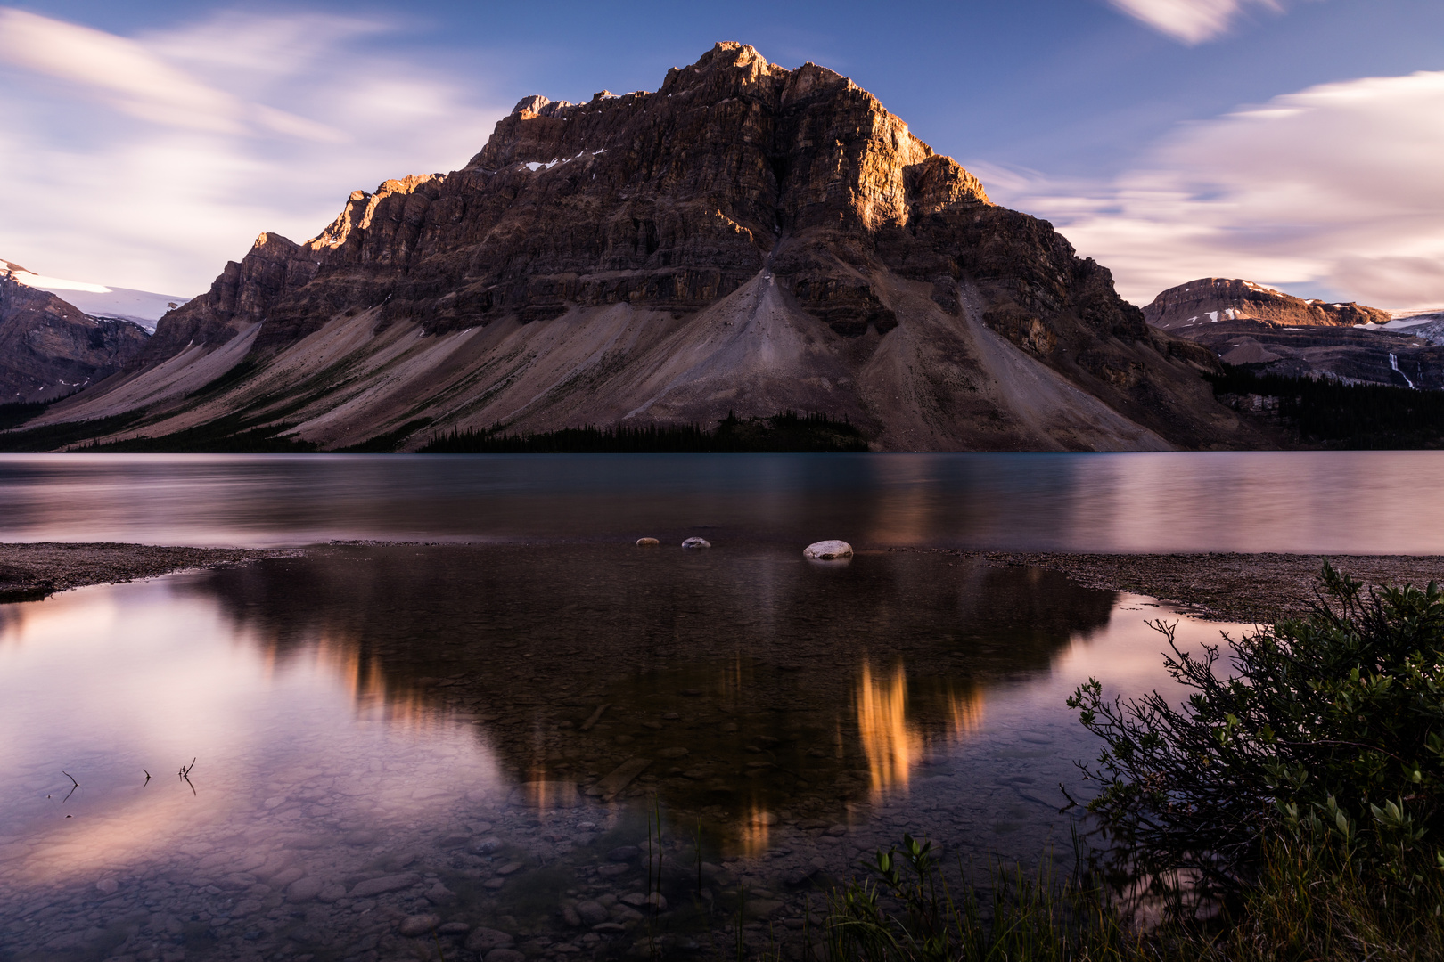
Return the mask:
<path id="1" fill-rule="evenodd" d="M 377 52 L 394 32 L 230 12 L 127 37 L 0 7 L 0 255 L 195 294 L 263 229 L 310 237 L 355 187 L 459 167 L 505 111 Z"/>

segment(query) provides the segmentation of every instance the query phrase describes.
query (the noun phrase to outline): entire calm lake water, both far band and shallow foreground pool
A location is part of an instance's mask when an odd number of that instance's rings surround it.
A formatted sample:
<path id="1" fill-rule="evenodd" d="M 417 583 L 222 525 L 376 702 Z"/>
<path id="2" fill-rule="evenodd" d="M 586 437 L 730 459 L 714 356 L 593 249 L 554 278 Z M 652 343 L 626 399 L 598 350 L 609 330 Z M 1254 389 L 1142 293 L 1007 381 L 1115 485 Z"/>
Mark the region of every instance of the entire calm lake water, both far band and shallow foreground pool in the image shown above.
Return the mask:
<path id="1" fill-rule="evenodd" d="M 1063 860 L 1096 753 L 1063 700 L 1164 682 L 1149 599 L 901 548 L 1444 552 L 1440 482 L 1431 454 L 0 459 L 4 541 L 456 542 L 0 606 L 0 959 L 735 958 L 738 926 L 800 958 L 904 831 Z M 859 554 L 801 558 L 832 537 Z"/>

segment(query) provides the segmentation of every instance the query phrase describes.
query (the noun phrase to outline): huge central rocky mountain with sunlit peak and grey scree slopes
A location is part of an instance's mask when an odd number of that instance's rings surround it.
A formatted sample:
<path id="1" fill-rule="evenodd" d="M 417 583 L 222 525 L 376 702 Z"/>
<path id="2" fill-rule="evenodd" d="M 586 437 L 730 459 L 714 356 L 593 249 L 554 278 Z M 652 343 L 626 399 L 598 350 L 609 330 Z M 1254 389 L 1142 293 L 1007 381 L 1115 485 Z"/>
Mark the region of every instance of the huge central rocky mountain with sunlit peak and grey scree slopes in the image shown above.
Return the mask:
<path id="1" fill-rule="evenodd" d="M 848 78 L 719 43 L 653 92 L 529 97 L 303 244 L 263 234 L 38 424 L 414 450 L 796 410 L 877 450 L 1265 444 L 1216 368 Z"/>

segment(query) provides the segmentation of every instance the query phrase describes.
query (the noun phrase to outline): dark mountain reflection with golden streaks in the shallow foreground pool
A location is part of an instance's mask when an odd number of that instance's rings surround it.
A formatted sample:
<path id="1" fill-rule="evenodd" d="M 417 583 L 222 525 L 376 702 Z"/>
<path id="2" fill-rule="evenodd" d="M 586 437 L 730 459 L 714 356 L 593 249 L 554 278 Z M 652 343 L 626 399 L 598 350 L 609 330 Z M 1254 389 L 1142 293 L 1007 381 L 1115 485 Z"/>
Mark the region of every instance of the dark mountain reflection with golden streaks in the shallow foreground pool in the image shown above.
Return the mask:
<path id="1" fill-rule="evenodd" d="M 475 718 L 517 783 L 651 759 L 627 792 L 738 824 L 905 789 L 976 728 L 989 684 L 1045 671 L 1113 603 L 943 555 L 630 545 L 338 547 L 189 590 L 358 702 Z"/>

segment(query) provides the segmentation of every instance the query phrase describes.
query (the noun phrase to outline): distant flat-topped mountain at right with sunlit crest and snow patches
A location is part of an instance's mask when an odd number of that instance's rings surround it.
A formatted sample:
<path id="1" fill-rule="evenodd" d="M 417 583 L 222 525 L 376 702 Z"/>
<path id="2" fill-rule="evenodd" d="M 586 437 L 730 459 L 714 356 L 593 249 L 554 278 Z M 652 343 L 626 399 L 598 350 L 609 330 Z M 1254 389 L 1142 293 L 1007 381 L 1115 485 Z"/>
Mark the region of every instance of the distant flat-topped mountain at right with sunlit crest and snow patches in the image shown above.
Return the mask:
<path id="1" fill-rule="evenodd" d="M 1375 326 L 1392 316 L 1378 307 L 1302 300 L 1253 281 L 1204 277 L 1162 291 L 1144 307 L 1144 317 L 1209 348 L 1225 363 L 1259 374 L 1444 388 L 1444 349 L 1430 340 L 1427 326 L 1379 330 Z"/>

